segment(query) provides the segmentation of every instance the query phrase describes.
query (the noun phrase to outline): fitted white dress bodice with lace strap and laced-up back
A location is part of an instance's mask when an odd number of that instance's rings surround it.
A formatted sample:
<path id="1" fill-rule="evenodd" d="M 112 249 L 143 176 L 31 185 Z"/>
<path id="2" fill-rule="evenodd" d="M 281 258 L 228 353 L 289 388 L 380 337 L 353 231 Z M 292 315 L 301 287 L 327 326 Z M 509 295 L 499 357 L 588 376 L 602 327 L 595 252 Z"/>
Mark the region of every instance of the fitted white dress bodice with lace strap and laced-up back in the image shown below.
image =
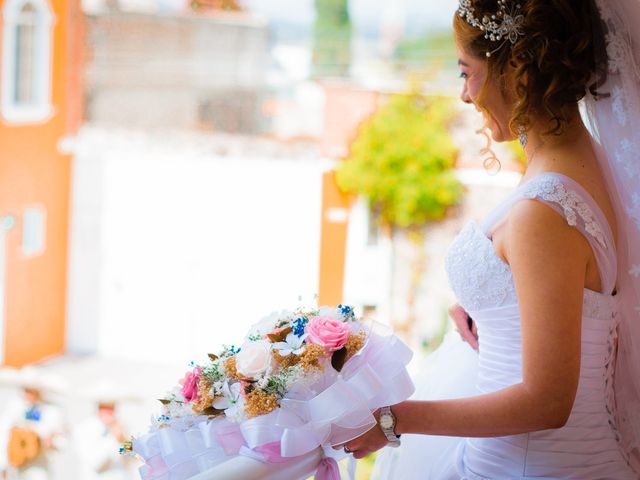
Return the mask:
<path id="1" fill-rule="evenodd" d="M 611 401 L 616 334 L 616 302 L 611 295 L 616 278 L 613 235 L 590 195 L 564 175 L 545 173 L 521 185 L 482 225 L 467 224 L 447 252 L 451 287 L 478 327 L 478 389 L 490 393 L 522 381 L 517 292 L 511 269 L 495 252 L 489 232 L 514 203 L 526 199 L 545 203 L 581 231 L 600 268 L 602 292 L 584 290 L 578 392 L 563 428 L 467 439 L 459 455 L 459 472 L 469 479 L 632 479 L 617 444 Z"/>

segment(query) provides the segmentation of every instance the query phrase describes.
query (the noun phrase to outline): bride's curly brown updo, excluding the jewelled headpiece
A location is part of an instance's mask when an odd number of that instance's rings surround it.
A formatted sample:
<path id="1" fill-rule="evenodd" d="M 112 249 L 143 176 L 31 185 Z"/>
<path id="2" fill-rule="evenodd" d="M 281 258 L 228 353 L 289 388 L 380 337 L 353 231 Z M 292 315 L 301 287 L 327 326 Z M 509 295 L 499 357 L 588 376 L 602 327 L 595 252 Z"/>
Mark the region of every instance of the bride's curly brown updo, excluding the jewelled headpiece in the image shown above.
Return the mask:
<path id="1" fill-rule="evenodd" d="M 487 60 L 487 82 L 497 79 L 503 92 L 514 82 L 512 133 L 520 126 L 527 129 L 533 114 L 549 117 L 546 134 L 560 134 L 575 115 L 577 103 L 587 91 L 597 95 L 606 78 L 606 49 L 602 26 L 595 20 L 596 6 L 593 0 L 509 0 L 508 7 L 509 2 L 519 4 L 524 16 L 523 35 L 514 45 L 506 41 L 496 50 L 497 42 L 486 39 L 457 12 L 456 38 L 465 52 Z M 479 19 L 498 11 L 496 0 L 472 0 L 472 6 Z M 487 58 L 486 52 L 493 53 Z"/>

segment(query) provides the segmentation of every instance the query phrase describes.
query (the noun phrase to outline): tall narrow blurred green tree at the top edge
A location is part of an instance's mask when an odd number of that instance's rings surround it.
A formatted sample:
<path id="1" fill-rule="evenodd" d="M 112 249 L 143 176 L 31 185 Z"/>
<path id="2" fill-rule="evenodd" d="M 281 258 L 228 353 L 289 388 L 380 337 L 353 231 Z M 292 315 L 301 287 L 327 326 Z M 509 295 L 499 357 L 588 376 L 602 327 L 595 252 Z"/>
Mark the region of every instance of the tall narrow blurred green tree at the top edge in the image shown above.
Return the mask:
<path id="1" fill-rule="evenodd" d="M 313 76 L 345 77 L 351 63 L 348 0 L 315 0 Z"/>

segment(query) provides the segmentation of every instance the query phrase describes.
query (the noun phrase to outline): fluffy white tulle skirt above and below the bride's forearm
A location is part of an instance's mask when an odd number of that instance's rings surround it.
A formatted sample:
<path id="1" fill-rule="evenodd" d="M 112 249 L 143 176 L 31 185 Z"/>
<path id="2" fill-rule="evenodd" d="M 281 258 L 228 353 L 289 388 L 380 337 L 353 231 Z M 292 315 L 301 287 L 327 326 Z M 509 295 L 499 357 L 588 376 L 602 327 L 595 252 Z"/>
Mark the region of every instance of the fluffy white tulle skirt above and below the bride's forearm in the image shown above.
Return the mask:
<path id="1" fill-rule="evenodd" d="M 414 400 L 443 400 L 478 395 L 478 354 L 457 333 L 423 360 L 414 378 Z M 402 435 L 398 448 L 378 454 L 373 478 L 380 480 L 459 480 L 461 437 Z"/>

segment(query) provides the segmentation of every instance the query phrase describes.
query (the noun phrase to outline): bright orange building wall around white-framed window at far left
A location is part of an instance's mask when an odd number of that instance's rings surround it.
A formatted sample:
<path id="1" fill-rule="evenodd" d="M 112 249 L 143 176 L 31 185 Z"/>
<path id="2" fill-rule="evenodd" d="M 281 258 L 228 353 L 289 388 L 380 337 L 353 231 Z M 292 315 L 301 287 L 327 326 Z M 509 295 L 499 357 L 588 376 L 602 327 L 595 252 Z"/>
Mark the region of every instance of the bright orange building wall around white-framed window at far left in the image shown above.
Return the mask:
<path id="1" fill-rule="evenodd" d="M 4 2 L 0 2 L 2 8 Z M 68 104 L 80 91 L 69 91 L 69 12 L 77 3 L 53 0 L 53 117 L 41 124 L 0 123 L 0 215 L 12 214 L 17 224 L 7 236 L 5 364 L 21 366 L 64 351 L 67 246 L 71 158 L 58 151 L 74 119 Z M 75 38 L 74 38 L 75 37 Z M 77 63 L 75 63 L 77 65 Z M 77 103 L 75 104 L 77 105 Z M 76 123 L 77 125 L 77 123 Z M 25 207 L 46 209 L 46 250 L 22 255 L 21 228 Z"/>

